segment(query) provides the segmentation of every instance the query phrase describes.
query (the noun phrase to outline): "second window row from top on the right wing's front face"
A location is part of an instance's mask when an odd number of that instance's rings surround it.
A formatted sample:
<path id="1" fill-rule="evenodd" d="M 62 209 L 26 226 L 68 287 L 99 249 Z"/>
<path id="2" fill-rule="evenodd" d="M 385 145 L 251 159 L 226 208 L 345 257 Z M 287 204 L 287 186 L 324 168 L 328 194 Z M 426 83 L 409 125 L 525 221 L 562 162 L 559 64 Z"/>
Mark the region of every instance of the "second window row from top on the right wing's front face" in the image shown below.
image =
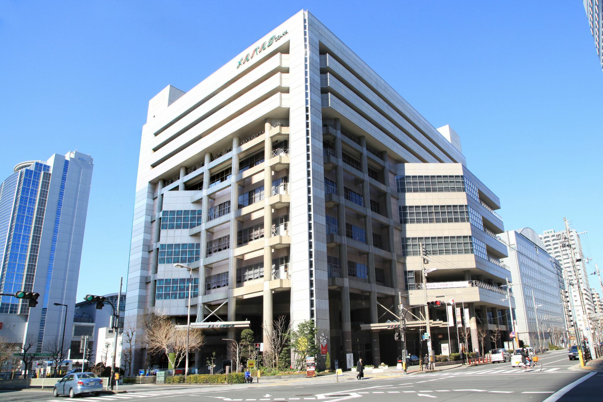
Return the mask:
<path id="1" fill-rule="evenodd" d="M 469 222 L 467 205 L 399 205 L 400 223 Z"/>

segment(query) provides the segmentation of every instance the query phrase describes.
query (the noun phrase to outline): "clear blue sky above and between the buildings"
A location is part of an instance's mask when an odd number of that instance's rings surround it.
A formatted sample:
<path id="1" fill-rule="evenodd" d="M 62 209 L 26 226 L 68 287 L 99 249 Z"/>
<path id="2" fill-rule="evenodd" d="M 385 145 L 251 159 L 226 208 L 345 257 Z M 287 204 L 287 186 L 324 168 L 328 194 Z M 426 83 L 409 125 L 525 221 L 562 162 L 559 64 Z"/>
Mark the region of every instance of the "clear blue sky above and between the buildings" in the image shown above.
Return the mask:
<path id="1" fill-rule="evenodd" d="M 566 216 L 603 268 L 603 72 L 582 1 L 0 0 L 0 180 L 52 153 L 94 159 L 78 300 L 127 277 L 150 98 L 189 91 L 302 8 L 459 133 L 505 228 Z"/>

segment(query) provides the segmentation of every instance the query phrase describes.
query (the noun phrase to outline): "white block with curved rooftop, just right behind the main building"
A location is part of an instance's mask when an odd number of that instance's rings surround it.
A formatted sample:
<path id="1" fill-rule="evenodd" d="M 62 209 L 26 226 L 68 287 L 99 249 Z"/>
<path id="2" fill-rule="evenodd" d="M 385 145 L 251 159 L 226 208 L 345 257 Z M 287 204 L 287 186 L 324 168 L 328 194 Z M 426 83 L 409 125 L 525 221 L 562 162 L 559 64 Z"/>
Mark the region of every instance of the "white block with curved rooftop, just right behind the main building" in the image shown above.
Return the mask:
<path id="1" fill-rule="evenodd" d="M 530 228 L 507 231 L 500 237 L 509 254 L 503 261 L 513 278 L 518 339 L 535 349 L 561 344 L 567 328 L 561 265 Z"/>

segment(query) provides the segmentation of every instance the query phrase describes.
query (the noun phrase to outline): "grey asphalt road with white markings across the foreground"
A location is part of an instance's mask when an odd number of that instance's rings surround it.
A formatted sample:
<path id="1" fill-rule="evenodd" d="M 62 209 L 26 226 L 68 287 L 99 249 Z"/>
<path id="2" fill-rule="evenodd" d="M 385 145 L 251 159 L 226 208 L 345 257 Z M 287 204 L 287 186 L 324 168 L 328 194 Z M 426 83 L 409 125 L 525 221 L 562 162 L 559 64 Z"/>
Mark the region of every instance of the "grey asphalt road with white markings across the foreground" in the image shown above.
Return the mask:
<path id="1" fill-rule="evenodd" d="M 519 372 L 510 363 L 496 363 L 472 368 L 461 367 L 440 372 L 403 375 L 399 372 L 366 374 L 356 380 L 354 373 L 335 382 L 335 376 L 262 381 L 254 384 L 216 386 L 133 385 L 120 387 L 125 394 L 82 397 L 90 402 L 136 401 L 177 398 L 188 401 L 297 401 L 336 402 L 349 399 L 365 401 L 590 401 L 603 395 L 603 372 L 572 371 L 576 364 L 567 359 L 567 351 L 540 357 L 541 372 Z M 576 384 L 578 381 L 581 383 Z M 2 392 L 2 401 L 66 402 L 47 392 Z M 162 401 L 163 400 L 163 401 Z M 173 400 L 173 399 L 172 399 Z"/>

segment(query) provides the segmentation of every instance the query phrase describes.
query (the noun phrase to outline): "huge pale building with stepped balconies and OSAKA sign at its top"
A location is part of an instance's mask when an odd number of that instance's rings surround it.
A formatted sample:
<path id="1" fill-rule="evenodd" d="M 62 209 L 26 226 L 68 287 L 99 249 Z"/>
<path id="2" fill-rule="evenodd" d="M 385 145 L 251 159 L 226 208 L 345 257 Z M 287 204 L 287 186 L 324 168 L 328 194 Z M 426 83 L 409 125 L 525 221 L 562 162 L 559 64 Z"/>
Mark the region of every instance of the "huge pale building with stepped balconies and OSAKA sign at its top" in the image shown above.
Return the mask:
<path id="1" fill-rule="evenodd" d="M 182 264 L 193 272 L 195 326 L 219 317 L 212 325 L 227 327 L 207 330 L 191 367 L 210 351 L 218 365 L 230 359 L 222 338 L 238 328 L 260 342 L 278 316 L 314 320 L 339 367 L 349 354 L 395 363 L 397 306 L 411 307 L 408 348 L 418 354 L 425 296 L 466 308 L 477 348 L 478 327 L 508 330 L 499 208 L 449 126 L 434 129 L 300 11 L 195 88 L 168 86 L 150 101 L 126 314 L 138 335 L 151 312 L 186 323 Z M 419 244 L 438 268 L 427 289 Z M 432 311 L 436 353 L 443 343 L 458 349 L 446 312 Z M 143 346 L 134 369 L 144 367 Z"/>

